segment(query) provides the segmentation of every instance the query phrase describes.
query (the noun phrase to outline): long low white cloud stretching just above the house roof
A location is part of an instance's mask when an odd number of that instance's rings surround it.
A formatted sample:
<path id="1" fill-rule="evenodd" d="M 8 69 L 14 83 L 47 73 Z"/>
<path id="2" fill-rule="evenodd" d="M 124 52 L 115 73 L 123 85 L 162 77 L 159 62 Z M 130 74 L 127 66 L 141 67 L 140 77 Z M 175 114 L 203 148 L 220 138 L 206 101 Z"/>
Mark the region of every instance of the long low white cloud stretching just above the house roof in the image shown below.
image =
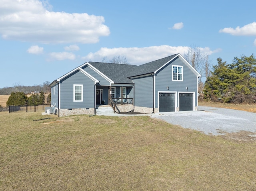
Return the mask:
<path id="1" fill-rule="evenodd" d="M 122 55 L 127 58 L 130 64 L 141 65 L 144 63 L 148 63 L 150 61 L 154 61 L 160 58 L 164 58 L 176 53 L 180 53 L 184 55 L 184 52 L 187 52 L 189 47 L 187 46 L 178 46 L 172 47 L 168 45 L 160 45 L 160 46 L 151 46 L 151 47 L 130 47 L 130 48 L 101 48 L 99 51 L 95 53 L 89 53 L 85 57 L 82 57 L 84 61 L 101 61 L 102 58 L 108 57 L 111 59 L 114 56 Z M 201 48 L 202 51 L 207 52 L 209 55 L 215 52 L 220 51 L 217 49 L 215 51 L 211 51 L 210 48 L 205 47 Z"/>

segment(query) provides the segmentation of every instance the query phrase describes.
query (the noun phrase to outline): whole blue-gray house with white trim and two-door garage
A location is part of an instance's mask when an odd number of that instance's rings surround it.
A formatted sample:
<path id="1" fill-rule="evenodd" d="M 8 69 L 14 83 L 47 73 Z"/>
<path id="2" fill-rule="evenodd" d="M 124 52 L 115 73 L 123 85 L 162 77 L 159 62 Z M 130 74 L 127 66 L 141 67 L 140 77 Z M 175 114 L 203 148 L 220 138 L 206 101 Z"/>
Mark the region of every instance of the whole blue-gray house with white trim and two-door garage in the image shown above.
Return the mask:
<path id="1" fill-rule="evenodd" d="M 180 54 L 140 66 L 86 62 L 50 84 L 59 116 L 95 114 L 99 105 L 115 112 L 197 110 L 200 74 Z"/>

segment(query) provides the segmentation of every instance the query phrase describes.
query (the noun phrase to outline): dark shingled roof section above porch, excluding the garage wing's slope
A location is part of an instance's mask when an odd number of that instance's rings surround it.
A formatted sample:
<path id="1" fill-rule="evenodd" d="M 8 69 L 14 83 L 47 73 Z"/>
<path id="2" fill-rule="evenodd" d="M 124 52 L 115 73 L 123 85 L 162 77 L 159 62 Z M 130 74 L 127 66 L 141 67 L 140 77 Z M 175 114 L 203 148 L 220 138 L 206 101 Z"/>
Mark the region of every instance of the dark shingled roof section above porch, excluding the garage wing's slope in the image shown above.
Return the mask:
<path id="1" fill-rule="evenodd" d="M 101 62 L 89 62 L 93 67 L 98 69 L 104 75 L 109 77 L 115 83 L 132 83 L 128 78 L 138 66 L 129 64 L 113 64 Z"/>

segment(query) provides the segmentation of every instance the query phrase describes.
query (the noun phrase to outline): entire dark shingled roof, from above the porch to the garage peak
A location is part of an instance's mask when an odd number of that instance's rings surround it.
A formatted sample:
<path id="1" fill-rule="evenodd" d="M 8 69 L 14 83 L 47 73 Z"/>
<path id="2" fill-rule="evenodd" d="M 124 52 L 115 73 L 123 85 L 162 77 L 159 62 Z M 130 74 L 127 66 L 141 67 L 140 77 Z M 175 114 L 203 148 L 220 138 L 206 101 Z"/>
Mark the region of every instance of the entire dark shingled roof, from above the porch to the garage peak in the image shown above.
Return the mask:
<path id="1" fill-rule="evenodd" d="M 133 83 L 128 77 L 154 73 L 168 61 L 176 57 L 178 54 L 168 56 L 156 61 L 152 61 L 140 66 L 129 64 L 113 64 L 102 62 L 89 62 L 93 67 L 98 69 L 104 75 L 109 77 L 115 83 Z"/>

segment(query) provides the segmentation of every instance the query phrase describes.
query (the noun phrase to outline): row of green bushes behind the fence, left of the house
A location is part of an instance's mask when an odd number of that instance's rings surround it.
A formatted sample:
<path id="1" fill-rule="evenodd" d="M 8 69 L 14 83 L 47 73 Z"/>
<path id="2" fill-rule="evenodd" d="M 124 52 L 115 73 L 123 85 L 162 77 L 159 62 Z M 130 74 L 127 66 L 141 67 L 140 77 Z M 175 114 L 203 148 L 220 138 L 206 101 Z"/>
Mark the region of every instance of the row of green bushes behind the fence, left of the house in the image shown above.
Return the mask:
<path id="1" fill-rule="evenodd" d="M 46 103 L 50 104 L 51 102 L 51 94 L 49 94 L 46 98 Z M 14 105 L 14 106 L 37 106 L 45 104 L 45 95 L 44 92 L 41 91 L 40 94 L 32 94 L 31 96 L 25 95 L 24 92 L 12 92 L 9 96 L 6 106 Z"/>

